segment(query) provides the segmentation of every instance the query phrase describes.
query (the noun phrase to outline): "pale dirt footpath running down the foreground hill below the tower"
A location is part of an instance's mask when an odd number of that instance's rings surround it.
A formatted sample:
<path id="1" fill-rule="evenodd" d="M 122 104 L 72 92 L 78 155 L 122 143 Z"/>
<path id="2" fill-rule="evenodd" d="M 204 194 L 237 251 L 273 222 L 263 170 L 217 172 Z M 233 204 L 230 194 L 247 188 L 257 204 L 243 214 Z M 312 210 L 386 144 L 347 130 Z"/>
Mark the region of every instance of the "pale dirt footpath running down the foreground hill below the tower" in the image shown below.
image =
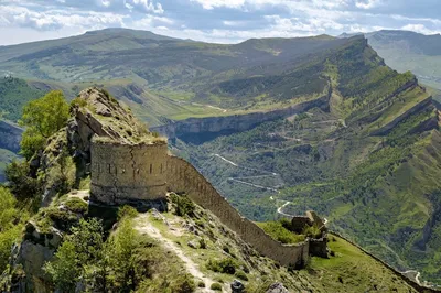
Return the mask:
<path id="1" fill-rule="evenodd" d="M 201 272 L 198 265 L 194 263 L 193 260 L 191 260 L 189 257 L 184 254 L 182 249 L 172 240 L 165 238 L 161 231 L 155 228 L 149 220 L 148 214 L 140 215 L 136 219 L 137 226 L 135 227 L 139 232 L 141 234 L 148 234 L 150 237 L 157 239 L 160 241 L 163 247 L 172 251 L 173 253 L 176 254 L 178 258 L 182 260 L 182 262 L 185 265 L 186 271 L 192 274 L 195 279 L 203 281 L 205 283 L 206 289 L 201 289 L 196 290 L 196 292 L 213 292 L 209 290 L 209 286 L 214 283 L 214 281 L 209 278 L 207 278 L 203 272 Z"/>

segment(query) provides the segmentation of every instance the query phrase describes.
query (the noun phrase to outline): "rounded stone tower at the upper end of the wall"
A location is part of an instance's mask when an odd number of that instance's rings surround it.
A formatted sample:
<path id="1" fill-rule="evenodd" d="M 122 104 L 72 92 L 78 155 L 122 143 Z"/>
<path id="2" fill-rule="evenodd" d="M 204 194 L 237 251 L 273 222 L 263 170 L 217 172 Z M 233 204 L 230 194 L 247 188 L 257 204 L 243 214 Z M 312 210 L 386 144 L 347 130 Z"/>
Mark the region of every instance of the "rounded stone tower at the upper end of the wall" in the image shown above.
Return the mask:
<path id="1" fill-rule="evenodd" d="M 90 199 L 109 205 L 157 200 L 166 193 L 166 142 L 93 140 Z"/>

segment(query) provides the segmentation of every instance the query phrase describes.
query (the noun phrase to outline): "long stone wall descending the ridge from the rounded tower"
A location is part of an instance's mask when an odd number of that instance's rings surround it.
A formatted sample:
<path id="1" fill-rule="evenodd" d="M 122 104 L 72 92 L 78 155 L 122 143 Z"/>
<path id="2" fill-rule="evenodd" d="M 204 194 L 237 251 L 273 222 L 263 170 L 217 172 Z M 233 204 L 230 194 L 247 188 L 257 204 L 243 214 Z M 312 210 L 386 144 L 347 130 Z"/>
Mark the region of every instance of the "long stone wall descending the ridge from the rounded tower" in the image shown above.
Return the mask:
<path id="1" fill-rule="evenodd" d="M 170 191 L 185 192 L 192 200 L 209 209 L 223 224 L 261 254 L 280 262 L 282 265 L 298 264 L 308 260 L 309 242 L 283 245 L 273 240 L 256 224 L 241 217 L 212 184 L 186 161 L 169 156 L 166 170 L 168 188 Z"/>

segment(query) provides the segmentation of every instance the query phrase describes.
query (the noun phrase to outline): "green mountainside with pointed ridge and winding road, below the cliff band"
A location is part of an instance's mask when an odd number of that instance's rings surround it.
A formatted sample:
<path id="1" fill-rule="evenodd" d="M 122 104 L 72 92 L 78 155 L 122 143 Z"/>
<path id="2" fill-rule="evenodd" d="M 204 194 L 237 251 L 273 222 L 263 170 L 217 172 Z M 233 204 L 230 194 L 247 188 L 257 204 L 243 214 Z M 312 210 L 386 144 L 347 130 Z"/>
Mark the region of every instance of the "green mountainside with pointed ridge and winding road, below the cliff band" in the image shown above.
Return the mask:
<path id="1" fill-rule="evenodd" d="M 248 217 L 319 210 L 396 268 L 439 282 L 437 104 L 361 40 L 325 64 L 327 112 L 309 110 L 200 145 L 178 133 L 178 151 Z"/>

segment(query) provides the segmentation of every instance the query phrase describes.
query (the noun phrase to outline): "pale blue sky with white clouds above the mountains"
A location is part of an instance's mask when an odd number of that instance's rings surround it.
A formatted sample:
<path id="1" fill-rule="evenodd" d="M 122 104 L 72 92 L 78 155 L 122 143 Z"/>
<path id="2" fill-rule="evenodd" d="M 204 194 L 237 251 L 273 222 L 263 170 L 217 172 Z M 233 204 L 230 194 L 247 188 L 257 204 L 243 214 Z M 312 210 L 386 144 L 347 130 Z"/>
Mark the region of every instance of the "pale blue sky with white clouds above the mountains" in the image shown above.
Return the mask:
<path id="1" fill-rule="evenodd" d="M 215 43 L 441 32 L 441 0 L 0 0 L 0 45 L 128 28 Z"/>

